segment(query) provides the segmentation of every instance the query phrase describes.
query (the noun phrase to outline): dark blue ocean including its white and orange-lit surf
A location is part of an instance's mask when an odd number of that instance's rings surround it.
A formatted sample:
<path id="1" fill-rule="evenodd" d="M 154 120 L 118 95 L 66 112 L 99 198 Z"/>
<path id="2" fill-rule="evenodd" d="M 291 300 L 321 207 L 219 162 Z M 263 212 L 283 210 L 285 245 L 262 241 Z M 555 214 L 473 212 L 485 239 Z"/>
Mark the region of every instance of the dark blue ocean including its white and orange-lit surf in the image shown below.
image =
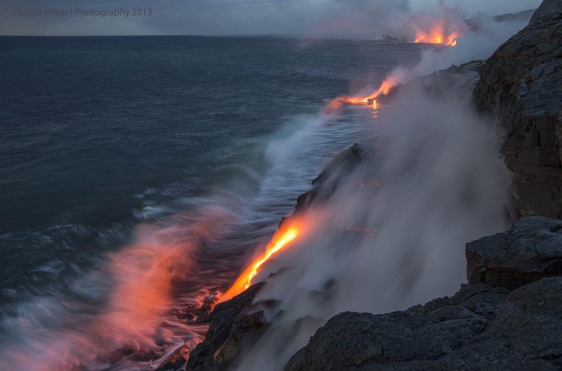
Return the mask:
<path id="1" fill-rule="evenodd" d="M 320 112 L 415 44 L 0 37 L 0 369 L 150 370 L 369 110 Z"/>

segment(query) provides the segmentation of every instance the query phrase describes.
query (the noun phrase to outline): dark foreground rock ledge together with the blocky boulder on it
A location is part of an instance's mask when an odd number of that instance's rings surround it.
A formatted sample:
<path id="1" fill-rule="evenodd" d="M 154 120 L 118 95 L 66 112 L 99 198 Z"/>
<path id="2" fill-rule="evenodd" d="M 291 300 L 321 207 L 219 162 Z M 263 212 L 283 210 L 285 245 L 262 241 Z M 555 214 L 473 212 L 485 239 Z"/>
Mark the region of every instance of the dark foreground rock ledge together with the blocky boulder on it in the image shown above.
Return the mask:
<path id="1" fill-rule="evenodd" d="M 523 219 L 466 256 L 455 296 L 336 315 L 285 371 L 561 370 L 562 221 Z"/>

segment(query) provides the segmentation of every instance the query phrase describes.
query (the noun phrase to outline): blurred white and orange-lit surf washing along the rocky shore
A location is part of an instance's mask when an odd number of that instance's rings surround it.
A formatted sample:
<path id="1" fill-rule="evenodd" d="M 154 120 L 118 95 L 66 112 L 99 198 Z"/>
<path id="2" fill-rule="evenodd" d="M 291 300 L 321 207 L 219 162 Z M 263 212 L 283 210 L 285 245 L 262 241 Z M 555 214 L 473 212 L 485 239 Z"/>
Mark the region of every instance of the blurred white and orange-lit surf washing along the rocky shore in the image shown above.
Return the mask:
<path id="1" fill-rule="evenodd" d="M 190 211 L 138 226 L 131 245 L 72 283 L 72 296 L 53 290 L 17 306 L 2 323 L 0 369 L 146 370 L 194 348 L 207 330 L 194 309 L 228 288 L 341 143 L 365 133 L 344 117 L 289 120 Z"/>

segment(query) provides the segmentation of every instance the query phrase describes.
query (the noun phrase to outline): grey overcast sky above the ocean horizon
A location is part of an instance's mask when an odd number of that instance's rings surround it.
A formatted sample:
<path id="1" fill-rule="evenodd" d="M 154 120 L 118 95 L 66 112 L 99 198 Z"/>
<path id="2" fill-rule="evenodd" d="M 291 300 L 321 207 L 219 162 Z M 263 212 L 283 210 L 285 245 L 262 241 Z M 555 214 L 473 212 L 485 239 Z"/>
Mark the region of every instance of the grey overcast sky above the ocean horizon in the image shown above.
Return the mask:
<path id="1" fill-rule="evenodd" d="M 445 0 L 447 6 L 459 8 L 466 17 L 478 12 L 514 13 L 537 8 L 540 3 L 541 0 Z M 77 8 L 82 11 L 77 13 Z M 141 10 L 141 15 L 133 15 L 135 8 Z M 0 34 L 376 37 L 384 23 L 398 12 L 436 8 L 438 0 L 0 0 Z M 53 15 L 46 9 L 72 13 Z M 100 13 L 111 10 L 129 13 Z"/>

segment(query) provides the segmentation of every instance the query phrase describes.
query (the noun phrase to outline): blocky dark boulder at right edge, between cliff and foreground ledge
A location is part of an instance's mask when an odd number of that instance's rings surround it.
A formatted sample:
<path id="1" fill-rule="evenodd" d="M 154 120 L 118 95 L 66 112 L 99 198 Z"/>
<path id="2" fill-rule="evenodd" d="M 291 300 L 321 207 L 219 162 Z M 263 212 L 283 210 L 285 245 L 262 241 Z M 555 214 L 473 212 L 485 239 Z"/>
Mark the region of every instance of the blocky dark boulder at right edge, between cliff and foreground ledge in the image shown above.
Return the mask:
<path id="1" fill-rule="evenodd" d="M 562 275 L 562 221 L 521 219 L 507 233 L 469 242 L 466 275 L 473 284 L 505 289 Z"/>

